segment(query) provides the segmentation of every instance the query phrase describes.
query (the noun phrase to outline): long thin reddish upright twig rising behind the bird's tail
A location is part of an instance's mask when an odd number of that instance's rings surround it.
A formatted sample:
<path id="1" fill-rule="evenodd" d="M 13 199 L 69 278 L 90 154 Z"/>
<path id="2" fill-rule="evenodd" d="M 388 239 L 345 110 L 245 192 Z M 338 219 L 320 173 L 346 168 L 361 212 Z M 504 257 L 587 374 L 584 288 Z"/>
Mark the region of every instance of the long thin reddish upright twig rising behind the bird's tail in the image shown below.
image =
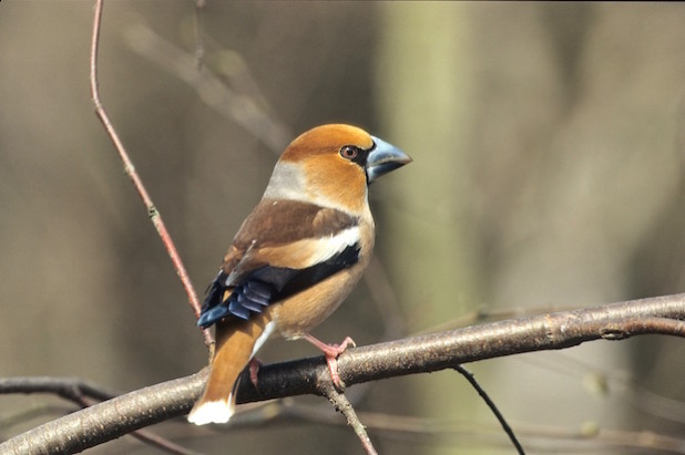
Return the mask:
<path id="1" fill-rule="evenodd" d="M 110 136 L 110 138 L 112 139 L 112 143 L 114 143 L 114 147 L 116 148 L 116 152 L 119 153 L 119 157 L 121 158 L 124 165 L 124 172 L 126 173 L 129 178 L 131 178 L 131 182 L 133 182 L 133 186 L 137 190 L 137 194 L 141 196 L 141 199 L 143 200 L 143 204 L 145 205 L 145 209 L 147 210 L 147 216 L 152 220 L 152 224 L 155 227 L 155 229 L 157 230 L 157 234 L 160 235 L 160 238 L 162 239 L 162 242 L 164 244 L 164 247 L 166 248 L 166 252 L 168 254 L 168 257 L 172 260 L 174 269 L 176 270 L 176 275 L 178 275 L 178 278 L 181 279 L 181 283 L 183 285 L 183 289 L 185 289 L 185 293 L 187 294 L 187 298 L 188 298 L 188 303 L 193 308 L 195 318 L 198 318 L 200 311 L 201 311 L 200 301 L 197 300 L 197 294 L 195 293 L 195 288 L 193 287 L 193 283 L 191 282 L 191 278 L 187 271 L 185 270 L 185 266 L 183 265 L 183 261 L 181 260 L 181 256 L 178 255 L 178 251 L 176 250 L 174 241 L 172 240 L 168 231 L 166 230 L 166 226 L 164 225 L 162 215 L 160 214 L 154 203 L 152 201 L 152 198 L 147 194 L 147 189 L 145 189 L 145 185 L 143 185 L 143 180 L 141 179 L 140 175 L 135 170 L 135 167 L 133 166 L 133 162 L 131 161 L 129 153 L 126 152 L 123 143 L 119 138 L 119 134 L 116 134 L 116 130 L 114 130 L 114 126 L 110 122 L 110 117 L 108 116 L 104 110 L 104 106 L 102 105 L 102 102 L 100 101 L 100 90 L 99 90 L 99 82 L 98 82 L 98 48 L 100 44 L 100 24 L 102 22 L 102 2 L 103 0 L 95 0 L 95 17 L 93 20 L 93 33 L 92 33 L 92 41 L 91 41 L 90 82 L 91 82 L 91 95 L 93 99 L 93 104 L 95 105 L 95 114 L 98 114 L 98 117 L 104 125 L 104 128 L 108 135 Z M 207 347 L 211 347 L 212 343 L 214 342 L 211 332 L 208 330 L 203 330 L 203 334 L 205 339 L 205 344 Z"/>

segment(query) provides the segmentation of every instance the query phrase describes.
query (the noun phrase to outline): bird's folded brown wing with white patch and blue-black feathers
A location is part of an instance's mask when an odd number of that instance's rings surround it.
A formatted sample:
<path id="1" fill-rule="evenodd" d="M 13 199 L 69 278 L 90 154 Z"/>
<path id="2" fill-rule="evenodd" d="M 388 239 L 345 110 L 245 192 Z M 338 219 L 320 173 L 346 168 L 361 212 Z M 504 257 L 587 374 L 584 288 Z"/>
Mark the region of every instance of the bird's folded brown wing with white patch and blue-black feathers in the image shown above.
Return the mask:
<path id="1" fill-rule="evenodd" d="M 197 324 L 248 319 L 358 260 L 358 217 L 306 201 L 263 199 L 224 257 Z"/>

